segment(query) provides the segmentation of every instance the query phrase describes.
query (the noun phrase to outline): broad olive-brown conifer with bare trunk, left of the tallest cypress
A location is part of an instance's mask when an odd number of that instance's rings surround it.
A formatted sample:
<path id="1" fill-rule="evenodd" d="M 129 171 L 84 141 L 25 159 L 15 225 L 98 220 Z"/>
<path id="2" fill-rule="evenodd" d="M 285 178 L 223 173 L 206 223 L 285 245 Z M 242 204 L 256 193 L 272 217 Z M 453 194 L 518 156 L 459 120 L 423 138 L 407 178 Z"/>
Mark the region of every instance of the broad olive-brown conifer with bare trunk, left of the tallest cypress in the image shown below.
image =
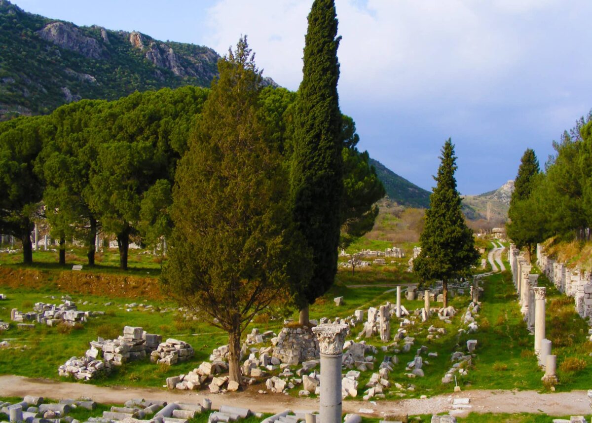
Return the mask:
<path id="1" fill-rule="evenodd" d="M 240 337 L 310 254 L 291 220 L 288 174 L 259 111 L 261 75 L 246 37 L 218 62 L 189 150 L 176 171 L 163 283 L 181 305 L 229 334 L 230 380 L 241 383 Z"/>

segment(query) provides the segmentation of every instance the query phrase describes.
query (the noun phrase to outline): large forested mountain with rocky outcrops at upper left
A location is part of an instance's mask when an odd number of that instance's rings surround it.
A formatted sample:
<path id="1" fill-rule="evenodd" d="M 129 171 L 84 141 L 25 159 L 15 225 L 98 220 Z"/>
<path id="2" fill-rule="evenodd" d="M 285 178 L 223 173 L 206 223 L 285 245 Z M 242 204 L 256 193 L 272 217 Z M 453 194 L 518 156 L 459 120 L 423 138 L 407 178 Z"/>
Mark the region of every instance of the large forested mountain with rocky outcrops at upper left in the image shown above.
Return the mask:
<path id="1" fill-rule="evenodd" d="M 209 86 L 219 58 L 208 47 L 79 27 L 0 0 L 0 120 L 49 113 L 81 98 Z"/>

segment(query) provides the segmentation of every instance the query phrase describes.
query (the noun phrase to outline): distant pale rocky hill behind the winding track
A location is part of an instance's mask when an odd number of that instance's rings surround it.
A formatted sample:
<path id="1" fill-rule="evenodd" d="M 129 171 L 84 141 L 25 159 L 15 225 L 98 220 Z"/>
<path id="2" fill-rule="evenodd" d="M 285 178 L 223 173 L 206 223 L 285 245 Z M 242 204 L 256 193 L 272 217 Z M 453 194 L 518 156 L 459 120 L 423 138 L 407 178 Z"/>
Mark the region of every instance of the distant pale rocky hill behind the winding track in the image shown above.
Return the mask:
<path id="1" fill-rule="evenodd" d="M 478 196 L 462 196 L 463 211 L 471 220 L 485 219 L 505 222 L 508 218 L 514 181 L 507 181 L 497 190 Z"/>

